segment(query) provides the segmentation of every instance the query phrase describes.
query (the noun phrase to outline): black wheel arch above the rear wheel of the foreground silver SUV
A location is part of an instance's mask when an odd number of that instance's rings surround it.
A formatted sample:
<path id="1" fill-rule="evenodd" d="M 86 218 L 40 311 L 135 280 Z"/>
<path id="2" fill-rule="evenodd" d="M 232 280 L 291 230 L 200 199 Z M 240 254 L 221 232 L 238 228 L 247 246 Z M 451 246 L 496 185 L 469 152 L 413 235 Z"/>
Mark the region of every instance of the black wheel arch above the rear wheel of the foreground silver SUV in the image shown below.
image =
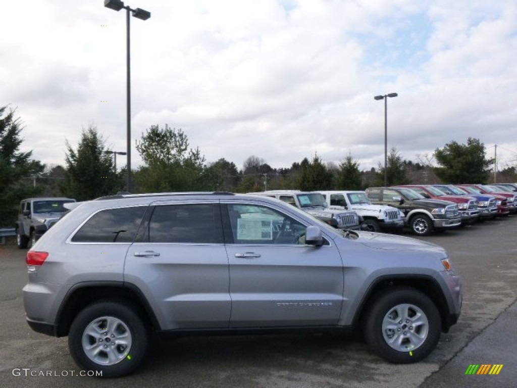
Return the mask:
<path id="1" fill-rule="evenodd" d="M 142 292 L 133 285 L 121 282 L 87 282 L 73 287 L 60 305 L 56 318 L 56 337 L 68 335 L 70 325 L 86 306 L 100 301 L 119 301 L 127 304 L 142 317 L 148 327 L 160 329 L 158 319 Z"/>

